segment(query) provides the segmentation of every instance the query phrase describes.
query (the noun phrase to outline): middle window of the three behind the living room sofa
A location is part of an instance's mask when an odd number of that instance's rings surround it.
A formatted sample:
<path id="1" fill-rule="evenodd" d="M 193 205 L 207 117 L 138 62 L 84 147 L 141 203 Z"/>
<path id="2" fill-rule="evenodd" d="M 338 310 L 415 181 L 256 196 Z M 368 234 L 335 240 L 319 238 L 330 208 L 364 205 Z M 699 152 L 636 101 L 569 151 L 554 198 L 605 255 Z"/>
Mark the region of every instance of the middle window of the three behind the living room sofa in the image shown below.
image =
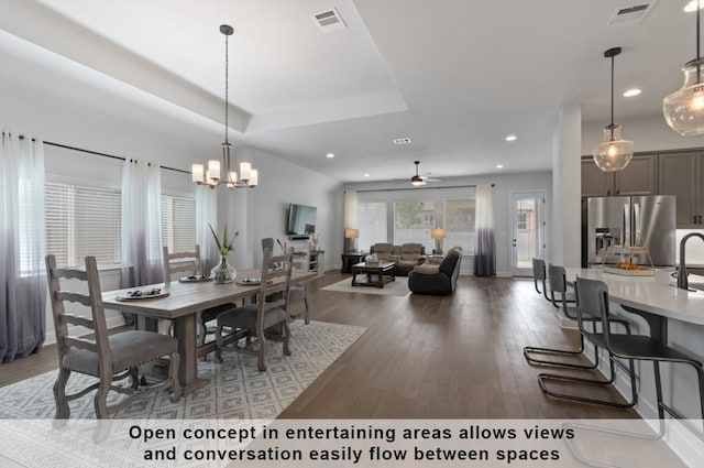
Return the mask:
<path id="1" fill-rule="evenodd" d="M 435 200 L 394 203 L 394 244 L 422 243 L 430 252 L 433 241 L 430 230 L 436 225 Z"/>

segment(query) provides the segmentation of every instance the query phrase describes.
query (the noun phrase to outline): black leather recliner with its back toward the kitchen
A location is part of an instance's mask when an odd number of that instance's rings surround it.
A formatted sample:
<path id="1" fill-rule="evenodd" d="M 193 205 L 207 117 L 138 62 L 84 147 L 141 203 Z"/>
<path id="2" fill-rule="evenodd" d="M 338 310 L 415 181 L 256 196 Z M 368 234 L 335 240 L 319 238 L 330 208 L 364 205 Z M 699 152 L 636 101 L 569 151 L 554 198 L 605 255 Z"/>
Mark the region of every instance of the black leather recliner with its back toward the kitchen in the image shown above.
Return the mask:
<path id="1" fill-rule="evenodd" d="M 424 263 L 408 273 L 408 289 L 415 294 L 450 294 L 454 291 L 462 263 L 462 248 L 450 249 L 442 262 Z"/>

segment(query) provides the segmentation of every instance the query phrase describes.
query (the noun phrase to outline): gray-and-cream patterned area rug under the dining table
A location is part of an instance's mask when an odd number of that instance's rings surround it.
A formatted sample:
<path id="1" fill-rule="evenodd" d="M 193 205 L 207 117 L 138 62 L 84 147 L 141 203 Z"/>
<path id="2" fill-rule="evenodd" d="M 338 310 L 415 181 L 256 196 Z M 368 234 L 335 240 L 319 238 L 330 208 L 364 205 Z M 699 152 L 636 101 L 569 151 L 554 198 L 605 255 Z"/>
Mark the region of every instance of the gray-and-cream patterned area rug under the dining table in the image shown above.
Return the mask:
<path id="1" fill-rule="evenodd" d="M 267 371 L 260 372 L 256 357 L 239 352 L 223 352 L 217 364 L 212 356 L 199 361 L 199 377 L 204 387 L 174 404 L 166 393 L 135 402 L 120 411 L 117 418 L 275 418 L 318 376 L 338 359 L 366 328 L 350 325 L 302 320 L 292 324 L 292 356 L 282 353 L 280 344 L 270 344 Z M 56 371 L 0 388 L 0 418 L 53 418 L 52 388 Z M 70 389 L 87 387 L 95 379 L 74 373 Z M 113 392 L 114 393 L 114 392 Z M 95 418 L 92 394 L 70 403 L 72 418 Z M 1 444 L 0 444 L 1 446 Z M 0 464 L 1 465 L 1 464 Z"/>

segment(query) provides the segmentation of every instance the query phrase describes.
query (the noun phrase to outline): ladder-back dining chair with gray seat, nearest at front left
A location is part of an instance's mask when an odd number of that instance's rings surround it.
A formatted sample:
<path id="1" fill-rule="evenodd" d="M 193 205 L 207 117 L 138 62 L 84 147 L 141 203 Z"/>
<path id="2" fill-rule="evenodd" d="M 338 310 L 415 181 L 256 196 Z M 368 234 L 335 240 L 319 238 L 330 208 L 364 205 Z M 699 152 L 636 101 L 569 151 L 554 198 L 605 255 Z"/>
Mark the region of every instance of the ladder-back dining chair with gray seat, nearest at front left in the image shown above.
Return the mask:
<path id="1" fill-rule="evenodd" d="M 70 416 L 68 402 L 79 399 L 95 389 L 98 389 L 94 398 L 98 418 L 107 418 L 135 400 L 162 390 L 172 391 L 173 402 L 180 399 L 179 355 L 176 338 L 143 330 L 128 330 L 108 335 L 95 257 L 86 257 L 86 269 L 78 270 L 56 268 L 55 257 L 46 255 L 46 274 L 58 351 L 58 377 L 54 383 L 55 418 L 68 418 Z M 64 290 L 62 280 L 86 282 L 88 294 Z M 90 307 L 90 316 L 85 317 L 68 313 L 65 308 L 66 302 Z M 88 333 L 81 334 L 81 336 L 72 336 L 68 329 L 69 325 L 84 327 Z M 157 361 L 165 356 L 169 358 L 168 377 L 152 385 L 140 385 L 138 367 Z M 66 383 L 72 372 L 97 377 L 98 382 L 76 393 L 66 394 Z M 119 387 L 113 383 L 128 377 L 130 378 L 130 387 Z M 110 391 L 127 394 L 128 398 L 118 403 L 109 404 Z"/>

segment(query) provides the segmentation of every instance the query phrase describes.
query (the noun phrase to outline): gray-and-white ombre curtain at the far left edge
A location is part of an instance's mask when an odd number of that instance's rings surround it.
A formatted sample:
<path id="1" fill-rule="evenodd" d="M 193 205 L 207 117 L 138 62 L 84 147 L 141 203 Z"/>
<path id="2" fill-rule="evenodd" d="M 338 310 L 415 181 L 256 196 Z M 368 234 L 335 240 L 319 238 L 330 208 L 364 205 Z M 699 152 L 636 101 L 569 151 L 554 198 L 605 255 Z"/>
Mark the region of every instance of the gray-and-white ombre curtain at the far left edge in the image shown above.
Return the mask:
<path id="1" fill-rule="evenodd" d="M 0 137 L 0 362 L 37 351 L 45 337 L 44 148 Z"/>

